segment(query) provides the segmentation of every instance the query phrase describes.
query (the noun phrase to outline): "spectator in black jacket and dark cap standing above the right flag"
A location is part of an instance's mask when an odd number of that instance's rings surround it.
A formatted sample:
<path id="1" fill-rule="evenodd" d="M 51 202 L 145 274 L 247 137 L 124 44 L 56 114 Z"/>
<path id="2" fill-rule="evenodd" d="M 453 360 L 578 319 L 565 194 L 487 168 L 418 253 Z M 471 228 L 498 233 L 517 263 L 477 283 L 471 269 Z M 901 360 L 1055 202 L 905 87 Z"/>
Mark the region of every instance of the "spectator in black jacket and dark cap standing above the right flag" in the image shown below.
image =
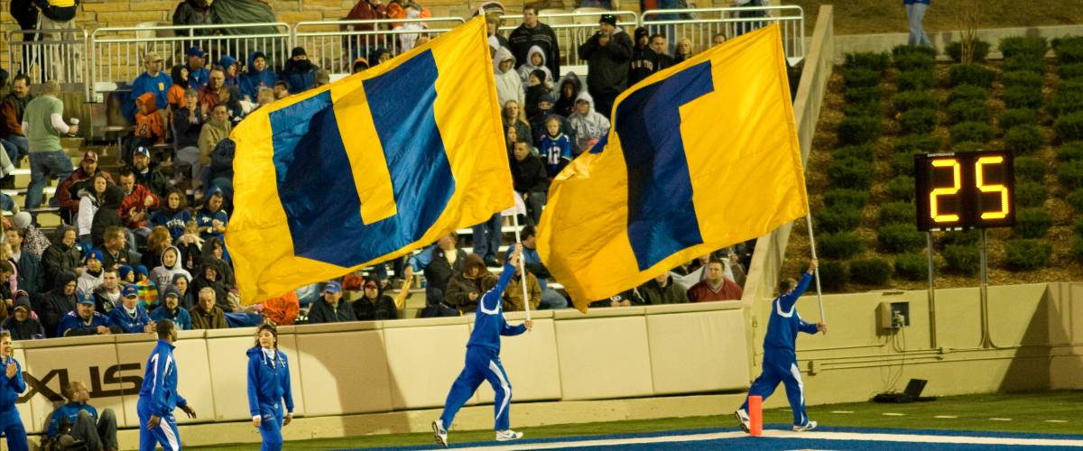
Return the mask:
<path id="1" fill-rule="evenodd" d="M 598 105 L 596 109 L 609 118 L 617 94 L 628 88 L 631 38 L 616 26 L 612 14 L 603 15 L 598 26 L 598 32 L 579 45 L 579 59 L 587 61 L 587 91 Z"/>

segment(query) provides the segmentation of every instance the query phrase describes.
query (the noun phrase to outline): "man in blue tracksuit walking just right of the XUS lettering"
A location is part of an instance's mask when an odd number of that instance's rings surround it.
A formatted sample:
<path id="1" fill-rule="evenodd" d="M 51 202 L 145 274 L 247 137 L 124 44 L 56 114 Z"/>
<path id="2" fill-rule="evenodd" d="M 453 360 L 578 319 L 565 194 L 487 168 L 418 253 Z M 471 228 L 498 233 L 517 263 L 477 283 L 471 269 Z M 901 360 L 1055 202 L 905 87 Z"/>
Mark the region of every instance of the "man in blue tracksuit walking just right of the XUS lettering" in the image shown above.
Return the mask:
<path id="1" fill-rule="evenodd" d="M 177 360 L 173 359 L 173 343 L 177 342 L 177 327 L 164 319 L 157 324 L 158 344 L 146 359 L 146 374 L 139 390 L 139 449 L 153 451 L 161 445 L 166 451 L 181 449 L 181 435 L 177 429 L 173 410 L 178 407 L 196 417 L 196 411 L 177 393 Z"/>

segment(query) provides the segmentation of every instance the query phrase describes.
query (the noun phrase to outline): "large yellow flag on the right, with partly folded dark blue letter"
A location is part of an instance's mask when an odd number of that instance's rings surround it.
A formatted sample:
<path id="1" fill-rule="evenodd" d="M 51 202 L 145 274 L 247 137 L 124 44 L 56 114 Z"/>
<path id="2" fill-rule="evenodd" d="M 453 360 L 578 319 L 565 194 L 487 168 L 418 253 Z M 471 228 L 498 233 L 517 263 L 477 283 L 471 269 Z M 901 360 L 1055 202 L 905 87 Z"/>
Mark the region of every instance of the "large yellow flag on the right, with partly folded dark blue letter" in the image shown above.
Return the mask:
<path id="1" fill-rule="evenodd" d="M 808 214 L 783 58 L 769 26 L 617 97 L 608 137 L 557 176 L 538 225 L 577 308 Z"/>

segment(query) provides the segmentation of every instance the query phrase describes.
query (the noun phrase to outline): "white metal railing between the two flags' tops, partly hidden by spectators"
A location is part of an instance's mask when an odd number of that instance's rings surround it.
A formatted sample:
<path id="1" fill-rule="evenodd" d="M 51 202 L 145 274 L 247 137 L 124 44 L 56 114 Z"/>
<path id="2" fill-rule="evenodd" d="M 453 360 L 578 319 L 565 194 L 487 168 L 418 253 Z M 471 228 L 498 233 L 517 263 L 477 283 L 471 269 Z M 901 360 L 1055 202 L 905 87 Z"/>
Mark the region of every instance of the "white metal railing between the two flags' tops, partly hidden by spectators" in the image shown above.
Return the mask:
<path id="1" fill-rule="evenodd" d="M 604 14 L 616 16 L 616 25 L 623 27 L 625 31 L 631 32 L 639 25 L 639 15 L 635 11 L 576 11 L 572 13 L 539 14 L 538 21 L 552 28 L 557 35 L 557 42 L 560 44 L 561 64 L 567 66 L 578 66 L 587 64 L 579 59 L 579 45 L 590 39 L 598 31 L 598 19 Z M 514 25 L 505 25 L 499 28 L 505 37 L 509 37 L 511 31 L 522 24 L 521 14 L 506 14 L 501 18 L 505 23 L 516 22 Z M 553 77 L 560 77 L 553 74 Z"/>

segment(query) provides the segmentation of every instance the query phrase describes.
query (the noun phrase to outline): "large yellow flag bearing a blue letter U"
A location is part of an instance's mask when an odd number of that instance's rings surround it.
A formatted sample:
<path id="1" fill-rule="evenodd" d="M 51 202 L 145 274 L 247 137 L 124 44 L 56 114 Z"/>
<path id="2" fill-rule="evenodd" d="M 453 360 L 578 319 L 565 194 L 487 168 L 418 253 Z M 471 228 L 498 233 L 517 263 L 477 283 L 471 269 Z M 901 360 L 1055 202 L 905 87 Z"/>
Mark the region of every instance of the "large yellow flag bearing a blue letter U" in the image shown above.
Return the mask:
<path id="1" fill-rule="evenodd" d="M 485 23 L 264 106 L 234 131 L 225 235 L 246 304 L 513 204 Z"/>

